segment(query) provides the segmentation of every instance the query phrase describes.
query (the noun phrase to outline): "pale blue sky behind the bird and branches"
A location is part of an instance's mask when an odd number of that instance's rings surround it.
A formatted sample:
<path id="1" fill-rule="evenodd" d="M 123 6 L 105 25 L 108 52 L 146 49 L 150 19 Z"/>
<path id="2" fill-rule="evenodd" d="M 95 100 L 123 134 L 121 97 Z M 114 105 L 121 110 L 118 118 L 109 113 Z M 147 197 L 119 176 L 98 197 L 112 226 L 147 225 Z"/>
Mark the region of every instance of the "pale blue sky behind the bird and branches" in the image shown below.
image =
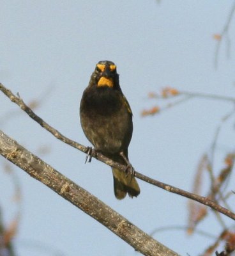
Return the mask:
<path id="1" fill-rule="evenodd" d="M 114 61 L 133 112 L 131 163 L 137 172 L 192 191 L 199 159 L 209 152 L 216 127 L 232 111 L 232 104 L 192 99 L 155 116 L 143 118 L 140 113 L 167 105 L 167 100 L 148 99 L 149 92 L 160 92 L 165 86 L 234 95 L 235 20 L 228 34 L 230 58 L 223 40 L 217 68 L 213 39 L 224 28 L 233 2 L 3 0 L 0 82 L 13 93 L 19 92 L 26 104 L 40 100 L 37 115 L 64 136 L 90 146 L 80 127 L 80 99 L 96 63 Z M 144 232 L 187 224 L 186 198 L 142 180 L 138 180 L 138 198 L 116 200 L 109 166 L 95 159 L 85 165 L 85 154 L 54 138 L 1 92 L 0 129 Z M 224 167 L 225 154 L 234 150 L 234 139 L 233 116 L 218 138 L 215 173 Z M 0 164 L 6 164 L 3 157 Z M 19 231 L 13 241 L 17 255 L 138 255 L 100 223 L 10 166 L 22 189 Z M 0 172 L 0 177 L 0 206 L 4 223 L 9 225 L 17 211 L 14 187 L 10 175 Z M 234 190 L 232 180 L 234 175 L 229 184 Z M 206 195 L 208 175 L 203 186 Z M 234 205 L 234 197 L 229 202 Z M 231 225 L 231 220 L 222 218 Z M 222 231 L 211 211 L 199 229 L 214 235 Z M 192 256 L 214 241 L 199 234 L 188 237 L 185 230 L 157 232 L 153 237 L 180 255 Z"/>

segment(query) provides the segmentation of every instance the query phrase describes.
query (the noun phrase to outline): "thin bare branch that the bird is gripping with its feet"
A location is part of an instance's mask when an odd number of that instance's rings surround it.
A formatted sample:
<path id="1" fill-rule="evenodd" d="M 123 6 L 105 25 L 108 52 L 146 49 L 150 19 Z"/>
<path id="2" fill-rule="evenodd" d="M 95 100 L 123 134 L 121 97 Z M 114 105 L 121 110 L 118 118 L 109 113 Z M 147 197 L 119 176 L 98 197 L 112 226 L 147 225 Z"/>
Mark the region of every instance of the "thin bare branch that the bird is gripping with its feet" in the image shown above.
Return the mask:
<path id="1" fill-rule="evenodd" d="M 23 109 L 27 115 L 29 115 L 31 118 L 33 118 L 33 120 L 35 120 L 36 122 L 38 122 L 38 124 L 40 124 L 43 128 L 45 128 L 47 131 L 49 131 L 51 134 L 53 134 L 57 139 L 63 141 L 64 143 L 67 143 L 68 145 L 71 145 L 72 147 L 75 147 L 77 149 L 79 149 L 82 152 L 87 153 L 89 148 L 84 147 L 83 145 L 72 141 L 68 138 L 66 138 L 65 136 L 63 136 L 59 131 L 57 131 L 56 129 L 54 129 L 53 127 L 51 127 L 49 124 L 47 124 L 45 121 L 42 120 L 42 118 L 40 118 L 39 116 L 37 116 L 31 108 L 29 108 L 24 101 L 19 97 L 16 97 L 15 95 L 13 95 L 13 93 L 8 90 L 7 88 L 5 88 L 3 86 L 3 84 L 0 83 L 0 90 L 12 101 L 15 102 L 17 105 L 20 106 L 21 109 Z M 123 166 L 119 163 L 116 163 L 114 161 L 112 161 L 111 159 L 103 156 L 102 154 L 100 154 L 100 152 L 95 152 L 93 150 L 93 152 L 91 153 L 93 157 L 95 157 L 96 159 L 98 159 L 99 161 L 102 161 L 103 163 L 108 164 L 109 166 L 113 166 L 116 168 L 119 168 L 120 170 L 123 170 L 123 172 L 126 172 L 126 166 Z M 221 212 L 222 214 L 228 216 L 229 218 L 232 218 L 233 220 L 235 220 L 235 214 L 231 211 L 229 211 L 228 209 L 216 204 L 215 202 L 213 202 L 212 200 L 210 200 L 207 197 L 204 196 L 199 196 L 199 195 L 195 195 L 193 193 L 190 193 L 188 191 L 185 191 L 183 189 L 179 189 L 176 188 L 174 186 L 171 186 L 169 184 L 165 184 L 163 182 L 160 182 L 158 180 L 154 180 L 151 179 L 149 177 L 147 177 L 146 175 L 142 175 L 139 172 L 135 172 L 135 177 L 144 180 L 150 184 L 153 184 L 155 186 L 158 186 L 159 188 L 165 189 L 169 192 L 181 195 L 181 196 L 185 196 L 187 198 L 190 198 L 192 200 L 195 200 L 201 204 L 207 205 L 209 207 L 211 207 L 211 209 L 214 209 L 218 212 Z"/>

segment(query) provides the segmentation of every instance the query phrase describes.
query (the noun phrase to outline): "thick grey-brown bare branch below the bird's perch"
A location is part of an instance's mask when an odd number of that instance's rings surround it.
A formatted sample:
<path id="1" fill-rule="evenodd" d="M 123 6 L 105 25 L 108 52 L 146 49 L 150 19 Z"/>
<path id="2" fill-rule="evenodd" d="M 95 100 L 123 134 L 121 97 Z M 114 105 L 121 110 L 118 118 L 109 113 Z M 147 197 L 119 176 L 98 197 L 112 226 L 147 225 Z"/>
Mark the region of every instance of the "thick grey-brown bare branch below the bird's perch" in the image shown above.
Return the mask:
<path id="1" fill-rule="evenodd" d="M 34 156 L 26 148 L 19 145 L 17 141 L 6 136 L 1 130 L 0 154 L 11 163 L 19 166 L 31 177 L 39 180 L 64 199 L 102 223 L 138 252 L 148 256 L 178 255 L 178 253 L 163 246 L 163 244 L 130 223 L 108 205 L 105 205 L 88 191 L 72 182 L 72 180 L 64 177 L 42 159 Z"/>

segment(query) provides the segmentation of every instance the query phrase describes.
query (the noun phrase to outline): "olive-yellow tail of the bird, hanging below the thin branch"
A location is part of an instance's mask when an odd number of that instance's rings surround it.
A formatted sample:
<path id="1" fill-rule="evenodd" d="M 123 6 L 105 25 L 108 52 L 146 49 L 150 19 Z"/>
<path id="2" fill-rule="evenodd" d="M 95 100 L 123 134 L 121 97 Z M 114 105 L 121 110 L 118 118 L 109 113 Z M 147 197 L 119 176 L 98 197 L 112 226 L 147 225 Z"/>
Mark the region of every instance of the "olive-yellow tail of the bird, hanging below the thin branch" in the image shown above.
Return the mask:
<path id="1" fill-rule="evenodd" d="M 140 193 L 139 185 L 130 173 L 125 173 L 117 168 L 112 167 L 114 175 L 114 194 L 117 199 L 123 199 L 126 193 L 130 197 L 137 196 Z"/>

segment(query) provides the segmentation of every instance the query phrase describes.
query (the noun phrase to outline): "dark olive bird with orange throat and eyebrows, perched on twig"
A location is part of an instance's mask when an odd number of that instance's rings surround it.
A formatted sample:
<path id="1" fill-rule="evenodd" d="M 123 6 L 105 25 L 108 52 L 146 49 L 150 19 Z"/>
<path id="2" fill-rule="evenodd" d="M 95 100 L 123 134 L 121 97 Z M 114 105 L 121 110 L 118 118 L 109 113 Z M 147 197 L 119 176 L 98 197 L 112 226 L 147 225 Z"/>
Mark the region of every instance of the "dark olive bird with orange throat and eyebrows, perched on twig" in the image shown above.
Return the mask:
<path id="1" fill-rule="evenodd" d="M 128 167 L 132 110 L 121 91 L 117 67 L 112 61 L 96 64 L 80 101 L 80 123 L 96 152 Z M 139 195 L 140 188 L 132 173 L 112 167 L 112 174 L 117 199 L 125 198 L 127 193 L 131 198 Z"/>

